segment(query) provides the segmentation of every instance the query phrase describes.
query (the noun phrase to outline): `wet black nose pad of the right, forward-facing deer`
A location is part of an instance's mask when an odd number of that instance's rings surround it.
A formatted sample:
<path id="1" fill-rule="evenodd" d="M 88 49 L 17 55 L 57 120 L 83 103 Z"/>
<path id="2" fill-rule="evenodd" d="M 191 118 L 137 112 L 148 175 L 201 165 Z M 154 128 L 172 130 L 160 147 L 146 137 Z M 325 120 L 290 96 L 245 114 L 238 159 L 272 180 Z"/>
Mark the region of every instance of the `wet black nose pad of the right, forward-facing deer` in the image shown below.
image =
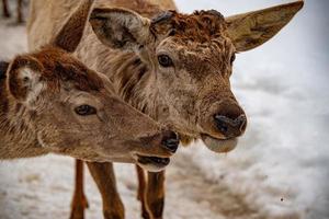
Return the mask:
<path id="1" fill-rule="evenodd" d="M 218 130 L 227 138 L 241 136 L 247 127 L 245 114 L 239 116 L 215 115 L 215 123 Z"/>

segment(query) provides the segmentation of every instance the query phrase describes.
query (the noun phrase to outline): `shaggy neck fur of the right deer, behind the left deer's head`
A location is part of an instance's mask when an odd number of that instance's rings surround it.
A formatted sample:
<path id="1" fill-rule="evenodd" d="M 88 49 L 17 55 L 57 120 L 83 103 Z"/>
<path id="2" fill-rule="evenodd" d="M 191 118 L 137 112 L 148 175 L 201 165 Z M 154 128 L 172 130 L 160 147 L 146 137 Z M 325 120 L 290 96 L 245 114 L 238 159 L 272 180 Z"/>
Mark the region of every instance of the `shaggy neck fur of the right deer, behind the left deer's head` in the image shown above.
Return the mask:
<path id="1" fill-rule="evenodd" d="M 156 73 L 149 65 L 143 62 L 136 54 L 105 47 L 93 33 L 88 34 L 84 39 L 88 43 L 80 44 L 83 46 L 78 49 L 78 57 L 87 66 L 104 72 L 114 84 L 115 92 L 125 102 L 178 132 L 183 145 L 189 145 L 194 139 L 184 135 L 180 127 L 168 119 L 170 114 L 168 104 L 158 91 Z M 84 50 L 89 50 L 91 56 L 98 58 L 90 59 L 83 56 Z M 92 53 L 95 54 L 92 55 Z"/>

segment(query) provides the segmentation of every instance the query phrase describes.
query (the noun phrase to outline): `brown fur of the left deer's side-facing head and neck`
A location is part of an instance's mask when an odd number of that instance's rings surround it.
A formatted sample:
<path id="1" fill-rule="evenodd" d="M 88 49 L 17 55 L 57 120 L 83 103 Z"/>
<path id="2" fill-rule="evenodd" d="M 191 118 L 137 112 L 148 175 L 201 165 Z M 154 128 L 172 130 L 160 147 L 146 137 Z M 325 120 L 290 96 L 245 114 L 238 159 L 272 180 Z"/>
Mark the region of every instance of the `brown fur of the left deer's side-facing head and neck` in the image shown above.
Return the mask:
<path id="1" fill-rule="evenodd" d="M 33 76 L 27 73 L 26 78 L 22 78 L 24 71 L 31 72 Z M 41 89 L 34 91 L 37 90 L 37 84 L 41 84 Z M 83 123 L 79 124 L 81 118 L 73 117 L 72 113 L 68 111 L 69 107 L 66 105 L 75 104 L 75 95 L 79 92 L 89 93 L 95 101 L 106 103 L 101 110 L 101 120 L 106 124 L 105 126 L 100 126 L 98 119 L 94 118 L 95 123 L 90 127 Z M 84 102 L 89 101 L 88 96 L 83 99 Z M 99 106 L 97 102 L 90 104 Z M 83 160 L 106 161 L 111 160 L 110 158 L 113 155 L 111 153 L 117 153 L 122 161 L 132 162 L 134 159 L 131 153 L 135 147 L 139 146 L 143 147 L 138 153 L 144 155 L 148 153 L 149 155 L 167 157 L 171 153 L 161 146 L 161 128 L 155 122 L 121 103 L 113 94 L 113 87 L 107 79 L 89 70 L 59 48 L 45 47 L 41 51 L 18 56 L 11 61 L 5 79 L 1 80 L 1 159 L 56 152 Z M 140 131 L 140 134 L 136 132 L 126 118 L 132 118 L 131 123 L 137 123 L 137 123 L 137 132 Z M 109 123 L 112 123 L 113 127 L 107 127 Z M 144 130 L 140 124 L 144 124 L 143 126 L 148 130 Z M 126 125 L 128 128 L 125 128 Z M 76 132 L 77 129 L 80 130 L 79 134 Z M 94 134 L 89 132 L 92 130 Z M 89 137 L 83 137 L 83 132 L 89 132 Z M 71 135 L 75 137 L 70 137 Z M 125 137 L 116 137 L 116 135 L 127 135 L 127 137 L 125 139 Z M 93 138 L 100 140 L 100 148 L 89 148 L 88 145 L 95 142 Z M 138 138 L 138 140 L 136 141 L 134 138 Z M 20 143 L 21 141 L 23 146 Z M 88 141 L 90 143 L 87 143 Z M 102 141 L 104 141 L 104 146 L 102 146 Z M 112 148 L 114 152 L 109 151 L 109 158 L 105 154 L 111 142 L 117 145 L 120 150 Z M 71 146 L 72 143 L 77 146 Z M 120 146 L 121 143 L 125 146 Z M 146 143 L 155 143 L 160 148 L 155 148 L 155 153 L 150 153 L 147 151 L 149 149 L 146 150 L 144 147 Z M 126 152 L 123 152 L 124 150 Z M 129 158 L 125 158 L 124 154 Z M 116 160 L 116 155 L 113 159 Z"/>

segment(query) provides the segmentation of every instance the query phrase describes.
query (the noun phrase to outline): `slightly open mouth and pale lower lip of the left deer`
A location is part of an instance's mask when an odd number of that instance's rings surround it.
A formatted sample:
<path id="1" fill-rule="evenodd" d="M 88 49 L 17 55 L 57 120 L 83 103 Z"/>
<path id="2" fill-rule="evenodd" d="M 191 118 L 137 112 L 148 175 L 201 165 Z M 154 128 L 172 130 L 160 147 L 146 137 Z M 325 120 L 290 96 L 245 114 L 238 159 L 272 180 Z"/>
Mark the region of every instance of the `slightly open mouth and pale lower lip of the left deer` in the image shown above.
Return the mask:
<path id="1" fill-rule="evenodd" d="M 137 164 L 149 172 L 162 171 L 169 163 L 169 158 L 137 155 Z"/>

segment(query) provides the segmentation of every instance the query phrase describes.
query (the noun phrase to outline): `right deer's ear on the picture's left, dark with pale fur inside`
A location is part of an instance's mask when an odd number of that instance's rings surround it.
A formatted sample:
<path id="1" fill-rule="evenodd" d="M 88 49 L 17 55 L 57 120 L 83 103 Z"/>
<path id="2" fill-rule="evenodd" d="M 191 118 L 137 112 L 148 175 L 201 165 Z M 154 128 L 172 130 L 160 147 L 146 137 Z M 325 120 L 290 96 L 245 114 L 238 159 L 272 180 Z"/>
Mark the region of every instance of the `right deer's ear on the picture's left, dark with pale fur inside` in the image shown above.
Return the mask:
<path id="1" fill-rule="evenodd" d="M 125 9 L 97 8 L 90 23 L 98 38 L 112 48 L 134 49 L 149 36 L 150 21 Z"/>

